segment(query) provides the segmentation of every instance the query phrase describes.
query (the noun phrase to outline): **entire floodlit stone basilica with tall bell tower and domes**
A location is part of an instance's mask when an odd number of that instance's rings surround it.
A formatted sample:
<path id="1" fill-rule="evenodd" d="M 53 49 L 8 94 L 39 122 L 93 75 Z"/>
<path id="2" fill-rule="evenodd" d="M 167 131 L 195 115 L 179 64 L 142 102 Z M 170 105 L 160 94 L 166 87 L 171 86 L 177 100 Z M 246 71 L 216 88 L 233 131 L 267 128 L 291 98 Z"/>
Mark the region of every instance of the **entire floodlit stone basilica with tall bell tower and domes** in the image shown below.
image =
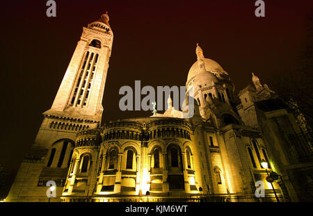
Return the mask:
<path id="1" fill-rule="evenodd" d="M 102 124 L 112 45 L 107 13 L 83 27 L 6 201 L 312 198 L 312 145 L 298 138 L 305 133 L 296 117 L 257 74 L 235 94 L 234 73 L 205 58 L 199 44 L 186 72 L 193 117 L 183 118 L 169 97 L 164 113 Z M 278 178 L 271 182 L 272 172 Z M 51 182 L 56 188 L 49 199 Z M 264 197 L 256 196 L 259 187 Z"/>

